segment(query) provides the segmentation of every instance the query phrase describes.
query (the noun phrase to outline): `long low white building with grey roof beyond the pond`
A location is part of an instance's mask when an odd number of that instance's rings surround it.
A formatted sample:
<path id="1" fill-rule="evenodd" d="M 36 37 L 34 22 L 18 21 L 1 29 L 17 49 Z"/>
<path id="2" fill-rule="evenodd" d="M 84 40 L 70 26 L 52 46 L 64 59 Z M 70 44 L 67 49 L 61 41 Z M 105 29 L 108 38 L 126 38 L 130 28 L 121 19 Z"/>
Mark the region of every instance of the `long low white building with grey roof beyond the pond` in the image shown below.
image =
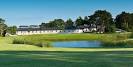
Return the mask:
<path id="1" fill-rule="evenodd" d="M 87 26 L 81 26 L 78 29 L 40 29 L 37 25 L 30 26 L 19 26 L 16 34 L 17 35 L 33 35 L 33 34 L 70 34 L 70 33 L 84 33 L 84 32 L 92 32 L 96 31 L 96 28 L 88 28 Z"/>

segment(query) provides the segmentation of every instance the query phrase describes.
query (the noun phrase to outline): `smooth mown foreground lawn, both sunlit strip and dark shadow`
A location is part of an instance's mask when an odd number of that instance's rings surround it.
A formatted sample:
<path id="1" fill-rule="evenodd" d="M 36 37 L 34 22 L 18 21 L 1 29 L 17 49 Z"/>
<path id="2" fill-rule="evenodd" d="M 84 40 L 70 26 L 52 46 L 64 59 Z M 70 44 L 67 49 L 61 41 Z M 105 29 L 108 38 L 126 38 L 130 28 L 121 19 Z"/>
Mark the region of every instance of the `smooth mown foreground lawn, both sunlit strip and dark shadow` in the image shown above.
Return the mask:
<path id="1" fill-rule="evenodd" d="M 41 48 L 0 37 L 0 67 L 133 67 L 133 48 Z"/>

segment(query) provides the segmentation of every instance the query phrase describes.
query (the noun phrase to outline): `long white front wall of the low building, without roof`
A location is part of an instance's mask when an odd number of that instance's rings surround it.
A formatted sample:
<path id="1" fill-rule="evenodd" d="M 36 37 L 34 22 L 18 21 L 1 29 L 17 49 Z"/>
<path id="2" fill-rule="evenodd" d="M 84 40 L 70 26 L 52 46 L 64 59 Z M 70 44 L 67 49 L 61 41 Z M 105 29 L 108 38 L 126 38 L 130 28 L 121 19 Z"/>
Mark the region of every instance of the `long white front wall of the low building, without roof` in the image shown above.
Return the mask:
<path id="1" fill-rule="evenodd" d="M 33 34 L 69 34 L 69 33 L 83 33 L 83 30 L 41 30 L 41 31 L 17 31 L 17 35 L 33 35 Z"/>

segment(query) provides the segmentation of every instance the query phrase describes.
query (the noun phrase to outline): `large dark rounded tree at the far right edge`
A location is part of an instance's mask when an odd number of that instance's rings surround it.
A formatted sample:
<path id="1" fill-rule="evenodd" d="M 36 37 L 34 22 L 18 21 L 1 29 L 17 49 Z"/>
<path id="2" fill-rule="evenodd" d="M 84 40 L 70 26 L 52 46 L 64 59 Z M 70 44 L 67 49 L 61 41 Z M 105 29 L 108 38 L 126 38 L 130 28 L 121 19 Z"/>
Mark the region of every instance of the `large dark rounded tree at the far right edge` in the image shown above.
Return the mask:
<path id="1" fill-rule="evenodd" d="M 121 14 L 116 16 L 115 21 L 117 28 L 129 31 L 130 27 L 132 27 L 130 26 L 130 24 L 132 23 L 130 13 L 122 12 Z"/>

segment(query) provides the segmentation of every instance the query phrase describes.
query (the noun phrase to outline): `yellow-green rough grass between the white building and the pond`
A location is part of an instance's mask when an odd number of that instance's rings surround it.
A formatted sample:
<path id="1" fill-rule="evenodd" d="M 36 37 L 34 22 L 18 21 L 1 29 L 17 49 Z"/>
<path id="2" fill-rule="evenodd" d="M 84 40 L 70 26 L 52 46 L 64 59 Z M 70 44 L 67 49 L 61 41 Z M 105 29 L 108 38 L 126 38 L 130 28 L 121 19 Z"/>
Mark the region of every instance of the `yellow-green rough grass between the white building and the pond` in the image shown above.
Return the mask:
<path id="1" fill-rule="evenodd" d="M 52 47 L 50 43 L 53 41 L 99 40 L 107 44 L 107 46 L 111 46 L 111 44 L 113 46 L 115 43 L 114 41 L 121 41 L 125 39 L 128 39 L 128 34 L 45 34 L 17 36 L 14 37 L 13 44 L 29 44 L 39 47 Z M 122 46 L 122 44 L 123 43 L 121 43 L 120 46 Z"/>

